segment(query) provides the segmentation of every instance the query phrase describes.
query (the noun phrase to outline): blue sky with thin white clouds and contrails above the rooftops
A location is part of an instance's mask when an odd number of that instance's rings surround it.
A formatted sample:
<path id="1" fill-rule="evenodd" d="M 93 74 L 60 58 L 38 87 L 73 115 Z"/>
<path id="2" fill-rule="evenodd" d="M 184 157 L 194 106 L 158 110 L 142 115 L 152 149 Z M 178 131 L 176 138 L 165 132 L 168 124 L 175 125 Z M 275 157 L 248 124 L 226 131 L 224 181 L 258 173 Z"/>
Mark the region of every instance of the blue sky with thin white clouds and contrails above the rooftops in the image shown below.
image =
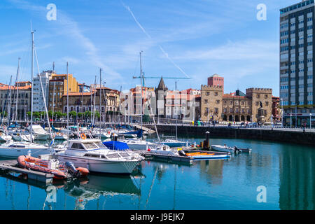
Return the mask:
<path id="1" fill-rule="evenodd" d="M 218 73 L 225 92 L 272 87 L 279 96 L 279 9 L 292 0 L 1 0 L 0 83 L 30 80 L 32 24 L 40 71 L 69 72 L 92 84 L 99 67 L 106 86 L 139 84 L 139 52 L 146 76 L 186 77 L 178 88 L 197 88 Z M 48 21 L 49 3 L 57 20 Z M 267 20 L 258 21 L 259 3 Z M 128 8 L 130 10 L 128 10 Z M 35 67 L 37 70 L 37 66 Z M 156 87 L 159 80 L 148 79 Z M 174 80 L 165 80 L 174 89 Z"/>

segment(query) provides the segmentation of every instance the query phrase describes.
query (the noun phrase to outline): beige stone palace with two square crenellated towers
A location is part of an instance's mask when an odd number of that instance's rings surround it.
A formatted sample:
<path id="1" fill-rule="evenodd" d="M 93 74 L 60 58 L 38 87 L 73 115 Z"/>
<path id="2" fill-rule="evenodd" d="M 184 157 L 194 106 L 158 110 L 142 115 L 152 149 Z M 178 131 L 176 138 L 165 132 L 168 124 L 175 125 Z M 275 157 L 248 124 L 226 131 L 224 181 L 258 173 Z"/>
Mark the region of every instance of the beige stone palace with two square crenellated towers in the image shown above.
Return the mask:
<path id="1" fill-rule="evenodd" d="M 202 85 L 201 120 L 208 122 L 270 122 L 272 89 L 249 88 L 223 94 L 221 87 Z"/>

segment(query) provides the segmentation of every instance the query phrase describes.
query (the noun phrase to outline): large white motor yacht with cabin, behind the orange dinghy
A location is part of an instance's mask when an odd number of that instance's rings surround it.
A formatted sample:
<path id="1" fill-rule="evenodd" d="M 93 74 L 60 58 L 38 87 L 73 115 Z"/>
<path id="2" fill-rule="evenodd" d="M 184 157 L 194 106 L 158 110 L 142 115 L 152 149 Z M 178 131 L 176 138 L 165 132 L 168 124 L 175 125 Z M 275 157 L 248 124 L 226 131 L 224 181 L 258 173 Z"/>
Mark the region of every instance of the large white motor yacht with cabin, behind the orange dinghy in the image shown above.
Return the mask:
<path id="1" fill-rule="evenodd" d="M 131 174 L 141 158 L 127 151 L 114 151 L 106 148 L 99 139 L 72 139 L 69 148 L 56 153 L 63 162 L 73 162 L 90 172 L 107 174 Z"/>

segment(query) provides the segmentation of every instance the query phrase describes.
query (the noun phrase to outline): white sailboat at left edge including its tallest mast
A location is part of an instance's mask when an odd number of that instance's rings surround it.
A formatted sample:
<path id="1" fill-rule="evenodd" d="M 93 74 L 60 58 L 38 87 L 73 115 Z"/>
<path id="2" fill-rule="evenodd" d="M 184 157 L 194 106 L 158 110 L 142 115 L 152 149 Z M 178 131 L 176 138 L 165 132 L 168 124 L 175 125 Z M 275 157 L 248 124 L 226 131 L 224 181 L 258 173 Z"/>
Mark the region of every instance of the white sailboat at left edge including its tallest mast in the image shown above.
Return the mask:
<path id="1" fill-rule="evenodd" d="M 34 31 L 31 31 L 31 85 L 33 86 L 34 78 Z M 31 127 L 33 126 L 33 87 L 31 88 Z M 45 104 L 45 97 L 44 104 Z M 46 104 L 45 104 L 46 107 Z M 46 111 L 47 112 L 47 111 Z M 49 122 L 49 120 L 48 120 Z M 46 145 L 34 144 L 33 143 L 33 134 L 30 132 L 31 142 L 14 142 L 12 140 L 7 141 L 6 144 L 0 146 L 0 157 L 5 158 L 18 158 L 20 155 L 29 155 L 33 157 L 38 157 L 38 155 L 51 154 L 52 148 Z"/>

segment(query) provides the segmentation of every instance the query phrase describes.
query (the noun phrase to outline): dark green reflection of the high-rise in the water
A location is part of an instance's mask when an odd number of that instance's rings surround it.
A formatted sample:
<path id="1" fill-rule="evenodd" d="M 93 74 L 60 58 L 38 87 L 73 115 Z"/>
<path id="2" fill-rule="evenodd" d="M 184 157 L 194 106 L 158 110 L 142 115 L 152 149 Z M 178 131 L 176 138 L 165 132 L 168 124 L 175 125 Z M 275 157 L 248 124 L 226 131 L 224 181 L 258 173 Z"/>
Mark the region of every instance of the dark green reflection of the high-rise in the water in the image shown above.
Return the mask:
<path id="1" fill-rule="evenodd" d="M 280 153 L 279 207 L 290 210 L 314 210 L 314 148 L 286 147 Z"/>

